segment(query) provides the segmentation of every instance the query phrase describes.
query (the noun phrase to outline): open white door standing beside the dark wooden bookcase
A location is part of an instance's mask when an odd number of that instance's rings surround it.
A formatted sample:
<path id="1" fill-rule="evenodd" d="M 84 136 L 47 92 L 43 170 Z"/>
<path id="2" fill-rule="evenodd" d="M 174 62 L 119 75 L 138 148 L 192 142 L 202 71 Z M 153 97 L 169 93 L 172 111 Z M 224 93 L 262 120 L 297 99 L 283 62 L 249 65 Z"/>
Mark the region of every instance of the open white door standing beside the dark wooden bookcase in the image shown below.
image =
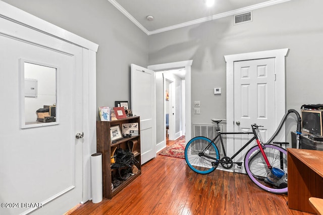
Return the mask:
<path id="1" fill-rule="evenodd" d="M 141 163 L 156 157 L 154 71 L 131 64 L 131 109 L 140 116 Z"/>

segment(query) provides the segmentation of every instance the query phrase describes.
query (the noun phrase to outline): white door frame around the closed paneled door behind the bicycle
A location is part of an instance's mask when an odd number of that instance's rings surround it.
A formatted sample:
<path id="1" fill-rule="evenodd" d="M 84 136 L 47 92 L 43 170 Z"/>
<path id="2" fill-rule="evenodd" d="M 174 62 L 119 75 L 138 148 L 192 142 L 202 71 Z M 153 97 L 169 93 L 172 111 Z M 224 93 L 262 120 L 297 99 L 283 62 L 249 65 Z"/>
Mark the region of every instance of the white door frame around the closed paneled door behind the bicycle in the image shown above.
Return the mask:
<path id="1" fill-rule="evenodd" d="M 227 62 L 227 131 L 234 130 L 234 62 L 241 60 L 253 60 L 262 58 L 275 58 L 275 126 L 278 127 L 285 115 L 285 56 L 288 48 L 258 51 L 251 53 L 226 55 Z M 284 128 L 282 129 L 285 130 Z M 271 135 L 271 134 L 270 134 Z M 276 138 L 277 141 L 285 141 L 285 132 L 280 132 Z M 227 140 L 227 146 L 233 145 L 233 139 Z"/>

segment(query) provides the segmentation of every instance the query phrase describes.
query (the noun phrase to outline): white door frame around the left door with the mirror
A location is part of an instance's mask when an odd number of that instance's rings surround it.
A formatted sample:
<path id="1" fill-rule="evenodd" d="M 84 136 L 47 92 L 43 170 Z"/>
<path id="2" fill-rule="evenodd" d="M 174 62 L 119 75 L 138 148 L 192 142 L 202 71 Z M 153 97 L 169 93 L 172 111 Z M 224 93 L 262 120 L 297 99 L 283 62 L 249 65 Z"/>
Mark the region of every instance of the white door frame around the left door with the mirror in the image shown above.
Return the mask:
<path id="1" fill-rule="evenodd" d="M 96 152 L 96 52 L 98 45 L 0 1 L 0 17 L 83 48 L 83 202 L 91 198 L 90 155 Z M 18 81 L 18 80 L 17 80 Z"/>

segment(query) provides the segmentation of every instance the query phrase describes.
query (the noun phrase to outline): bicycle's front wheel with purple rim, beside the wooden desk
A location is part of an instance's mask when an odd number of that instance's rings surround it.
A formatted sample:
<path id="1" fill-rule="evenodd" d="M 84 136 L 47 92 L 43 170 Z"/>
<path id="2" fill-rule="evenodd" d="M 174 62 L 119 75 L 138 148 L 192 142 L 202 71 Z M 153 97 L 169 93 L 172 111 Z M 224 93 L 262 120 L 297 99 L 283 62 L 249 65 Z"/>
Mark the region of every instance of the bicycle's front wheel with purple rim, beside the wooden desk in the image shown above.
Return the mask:
<path id="1" fill-rule="evenodd" d="M 251 148 L 244 160 L 249 178 L 261 189 L 271 193 L 287 193 L 287 151 L 265 144 L 262 148 L 272 169 L 268 169 L 258 146 Z"/>

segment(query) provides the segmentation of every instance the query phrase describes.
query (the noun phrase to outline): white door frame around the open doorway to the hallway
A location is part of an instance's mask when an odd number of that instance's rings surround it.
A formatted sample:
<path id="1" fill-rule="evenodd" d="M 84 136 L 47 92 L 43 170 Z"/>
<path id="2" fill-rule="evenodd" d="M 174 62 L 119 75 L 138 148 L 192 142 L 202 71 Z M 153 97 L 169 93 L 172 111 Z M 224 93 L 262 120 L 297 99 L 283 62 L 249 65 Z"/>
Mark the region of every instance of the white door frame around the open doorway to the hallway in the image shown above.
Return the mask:
<path id="1" fill-rule="evenodd" d="M 154 64 L 148 65 L 148 69 L 154 71 L 160 70 L 169 70 L 175 68 L 183 68 L 185 67 L 185 122 L 186 122 L 186 133 L 185 133 L 185 141 L 188 142 L 191 139 L 191 65 L 193 60 L 185 60 L 171 63 L 162 63 L 162 64 Z"/>

